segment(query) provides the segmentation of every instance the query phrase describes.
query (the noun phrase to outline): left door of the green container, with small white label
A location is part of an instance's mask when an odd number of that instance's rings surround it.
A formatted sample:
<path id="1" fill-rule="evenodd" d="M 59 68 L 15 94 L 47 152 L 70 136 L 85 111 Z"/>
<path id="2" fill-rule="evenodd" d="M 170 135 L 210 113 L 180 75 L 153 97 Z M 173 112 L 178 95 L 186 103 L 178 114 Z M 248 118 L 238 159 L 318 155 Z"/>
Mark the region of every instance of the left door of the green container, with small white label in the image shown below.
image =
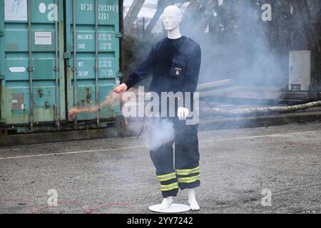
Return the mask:
<path id="1" fill-rule="evenodd" d="M 7 124 L 65 119 L 63 1 L 1 1 L 1 118 Z"/>

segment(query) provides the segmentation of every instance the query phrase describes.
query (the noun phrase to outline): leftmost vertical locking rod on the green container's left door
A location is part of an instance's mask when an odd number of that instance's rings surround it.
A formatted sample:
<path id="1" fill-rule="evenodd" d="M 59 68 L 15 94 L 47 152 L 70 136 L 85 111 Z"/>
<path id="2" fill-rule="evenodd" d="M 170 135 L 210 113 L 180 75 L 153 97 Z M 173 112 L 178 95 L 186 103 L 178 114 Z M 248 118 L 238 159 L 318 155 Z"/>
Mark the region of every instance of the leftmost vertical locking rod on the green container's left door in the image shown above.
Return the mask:
<path id="1" fill-rule="evenodd" d="M 32 43 L 31 43 L 31 0 L 28 1 L 28 29 L 29 29 L 29 83 L 30 83 L 30 113 L 29 113 L 29 124 L 30 128 L 34 127 L 34 86 L 32 82 L 32 72 L 34 68 L 32 66 Z"/>

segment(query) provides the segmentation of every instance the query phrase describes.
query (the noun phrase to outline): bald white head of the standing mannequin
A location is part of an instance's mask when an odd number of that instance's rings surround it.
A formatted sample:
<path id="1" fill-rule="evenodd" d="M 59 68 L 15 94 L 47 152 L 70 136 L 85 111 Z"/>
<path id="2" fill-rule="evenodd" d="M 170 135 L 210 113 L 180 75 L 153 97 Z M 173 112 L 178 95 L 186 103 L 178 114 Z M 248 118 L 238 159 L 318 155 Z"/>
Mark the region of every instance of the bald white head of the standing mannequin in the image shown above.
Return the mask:
<path id="1" fill-rule="evenodd" d="M 177 6 L 168 6 L 165 8 L 162 19 L 165 30 L 172 31 L 177 28 L 182 21 L 183 15 Z"/>

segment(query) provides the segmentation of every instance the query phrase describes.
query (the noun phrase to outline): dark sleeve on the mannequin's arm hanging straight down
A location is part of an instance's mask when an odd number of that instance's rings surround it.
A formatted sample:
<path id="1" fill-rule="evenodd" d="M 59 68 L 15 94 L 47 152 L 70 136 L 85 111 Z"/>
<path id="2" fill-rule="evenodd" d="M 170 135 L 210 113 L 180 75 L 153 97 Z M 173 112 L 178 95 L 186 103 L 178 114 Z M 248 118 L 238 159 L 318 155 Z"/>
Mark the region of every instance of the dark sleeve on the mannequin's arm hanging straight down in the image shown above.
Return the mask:
<path id="1" fill-rule="evenodd" d="M 200 75 L 200 63 L 202 59 L 202 52 L 200 46 L 195 46 L 191 51 L 191 55 L 188 58 L 187 66 L 186 66 L 186 74 L 183 82 L 182 92 L 184 94 L 185 100 L 185 92 L 191 93 L 191 100 L 193 101 L 193 93 L 198 87 L 198 78 Z"/>

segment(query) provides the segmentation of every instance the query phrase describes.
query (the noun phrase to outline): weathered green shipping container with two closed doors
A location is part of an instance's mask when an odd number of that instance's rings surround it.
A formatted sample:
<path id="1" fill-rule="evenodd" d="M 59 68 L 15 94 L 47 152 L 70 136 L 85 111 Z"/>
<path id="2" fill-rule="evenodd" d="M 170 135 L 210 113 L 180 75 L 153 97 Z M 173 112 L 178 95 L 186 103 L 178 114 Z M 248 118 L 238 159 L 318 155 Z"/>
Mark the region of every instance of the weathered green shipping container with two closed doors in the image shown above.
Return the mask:
<path id="1" fill-rule="evenodd" d="M 0 1 L 0 126 L 115 119 L 119 103 L 77 116 L 68 109 L 94 107 L 118 85 L 121 11 L 118 0 Z"/>

